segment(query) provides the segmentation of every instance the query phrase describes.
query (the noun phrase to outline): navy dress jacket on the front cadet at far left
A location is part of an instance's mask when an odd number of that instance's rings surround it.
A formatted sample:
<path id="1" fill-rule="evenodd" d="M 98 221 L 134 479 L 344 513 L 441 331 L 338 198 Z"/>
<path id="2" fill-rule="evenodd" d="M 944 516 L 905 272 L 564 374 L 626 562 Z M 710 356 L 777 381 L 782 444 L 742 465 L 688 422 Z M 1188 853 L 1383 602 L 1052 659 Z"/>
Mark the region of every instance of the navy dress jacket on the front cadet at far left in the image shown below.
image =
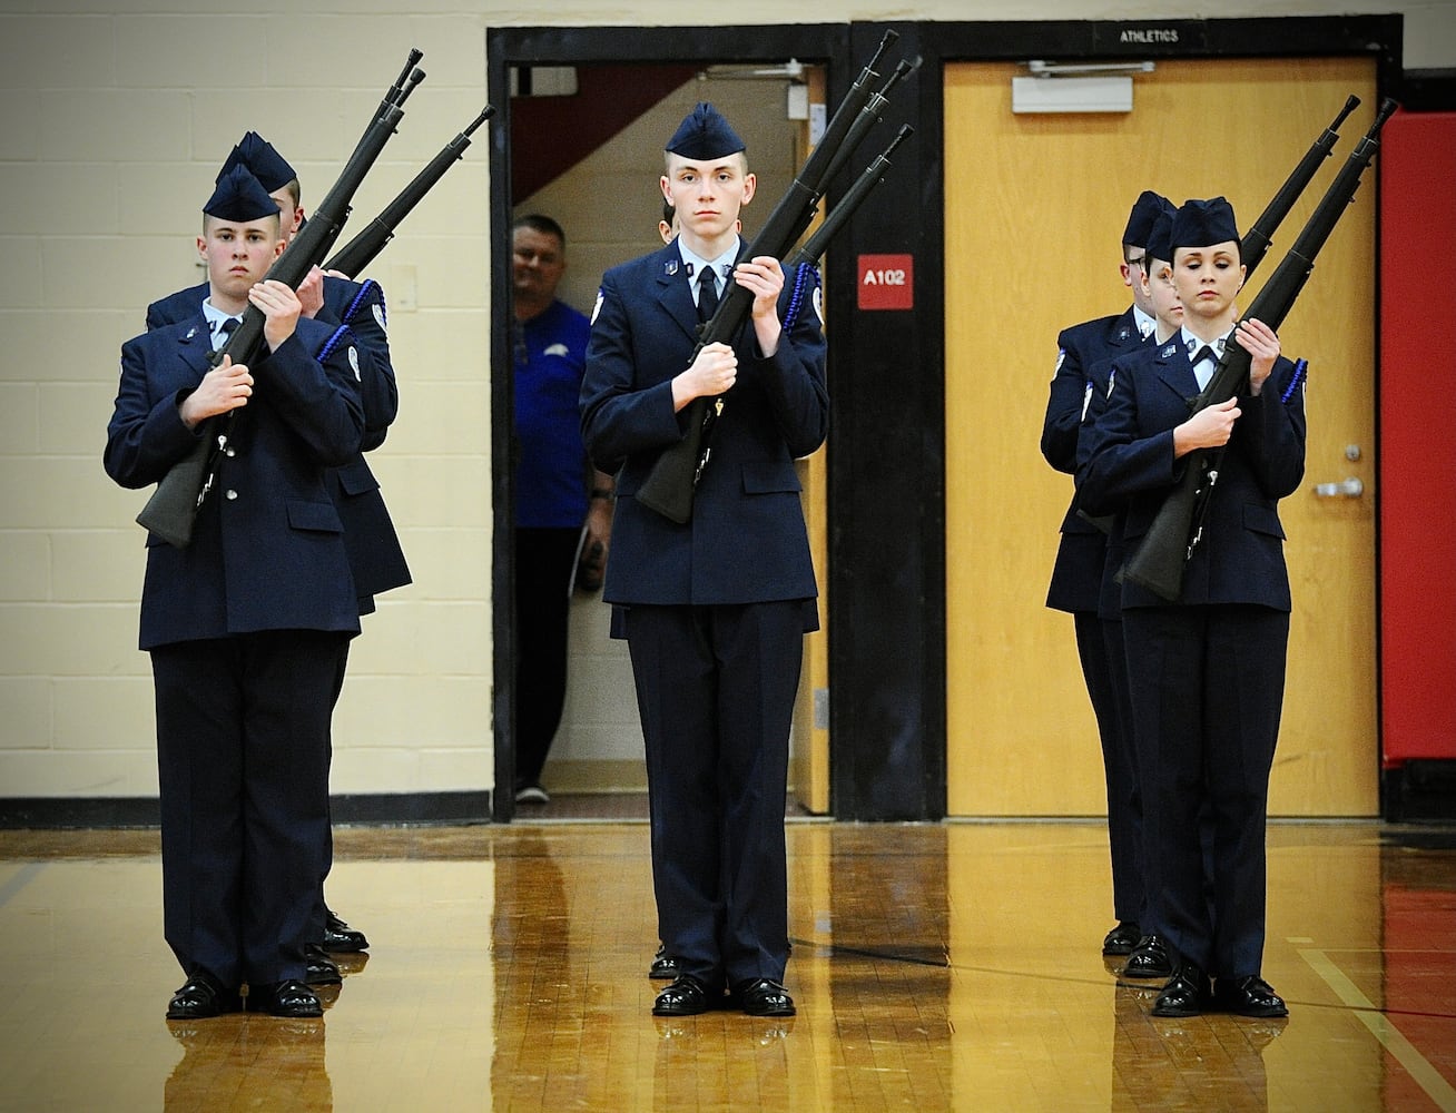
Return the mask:
<path id="1" fill-rule="evenodd" d="M 358 631 L 325 473 L 358 451 L 364 407 L 349 345 L 322 362 L 313 355 L 332 333 L 300 319 L 278 351 L 250 364 L 255 393 L 239 412 L 192 543 L 175 548 L 147 537 L 141 649 L 259 630 Z M 122 345 L 105 451 L 116 483 L 156 483 L 192 451 L 198 434 L 178 404 L 202 381 L 211 351 L 201 310 Z"/>

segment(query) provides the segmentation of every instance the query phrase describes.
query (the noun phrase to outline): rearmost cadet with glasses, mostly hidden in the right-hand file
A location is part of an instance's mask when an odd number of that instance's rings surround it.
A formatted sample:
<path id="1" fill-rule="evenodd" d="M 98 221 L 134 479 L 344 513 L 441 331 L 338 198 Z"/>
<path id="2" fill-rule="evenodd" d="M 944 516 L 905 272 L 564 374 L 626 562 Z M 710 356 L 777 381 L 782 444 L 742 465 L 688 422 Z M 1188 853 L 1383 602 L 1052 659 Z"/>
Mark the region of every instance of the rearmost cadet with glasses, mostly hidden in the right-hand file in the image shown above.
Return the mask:
<path id="1" fill-rule="evenodd" d="M 1095 390 L 1092 368 L 1118 352 L 1139 348 L 1153 333 L 1155 317 L 1143 292 L 1147 233 L 1160 212 L 1172 212 L 1166 198 L 1147 189 L 1139 195 L 1123 230 L 1123 282 L 1133 304 L 1120 314 L 1073 324 L 1057 336 L 1057 370 L 1051 380 L 1041 454 L 1059 471 L 1077 467 L 1077 432 Z M 1127 668 L 1118 621 L 1098 617 L 1102 569 L 1107 563 L 1105 524 L 1079 514 L 1073 495 L 1061 519 L 1061 543 L 1051 572 L 1047 607 L 1069 611 L 1077 656 L 1102 742 L 1107 778 L 1107 825 L 1112 855 L 1112 914 L 1117 925 L 1102 940 L 1104 954 L 1127 954 L 1143 937 L 1143 821 L 1137 759 L 1127 719 Z M 1166 976 L 1166 970 L 1163 975 Z"/>

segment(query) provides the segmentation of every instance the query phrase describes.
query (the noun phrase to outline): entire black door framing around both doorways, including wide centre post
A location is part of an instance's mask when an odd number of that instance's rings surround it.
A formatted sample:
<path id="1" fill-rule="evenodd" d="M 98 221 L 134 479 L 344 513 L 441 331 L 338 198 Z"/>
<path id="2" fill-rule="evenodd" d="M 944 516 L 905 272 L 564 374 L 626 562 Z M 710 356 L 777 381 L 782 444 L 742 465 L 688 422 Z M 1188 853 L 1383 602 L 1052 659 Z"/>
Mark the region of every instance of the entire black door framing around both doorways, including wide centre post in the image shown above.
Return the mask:
<path id="1" fill-rule="evenodd" d="M 887 118 L 914 127 L 826 259 L 833 400 L 828 434 L 828 666 L 831 813 L 855 821 L 945 818 L 945 218 L 948 63 L 1134 61 L 1232 57 L 1376 58 L 1380 96 L 1399 89 L 1404 17 L 1275 16 L 1191 20 L 862 22 L 711 28 L 499 28 L 486 32 L 491 128 L 491 365 L 508 365 L 511 65 L 593 61 L 827 67 L 831 105 L 890 28 L 895 58 L 920 58 Z M 885 128 L 885 125 L 879 125 Z M 877 132 L 878 134 L 878 132 Z M 865 143 L 865 160 L 877 138 Z M 856 154 L 858 157 L 858 154 Z M 849 177 L 849 175 L 843 175 Z M 843 188 L 843 183 L 837 186 Z M 911 192 L 913 191 L 913 192 Z M 831 191 L 830 201 L 834 198 Z M 909 204 L 907 204 L 909 202 Z M 911 308 L 858 311 L 860 255 L 910 255 Z M 1379 288 L 1379 278 L 1376 281 Z M 992 322 L 993 324 L 996 322 Z M 1379 384 L 1377 384 L 1379 386 Z M 1377 390 L 1379 404 L 1379 390 Z M 494 496 L 492 819 L 514 815 L 508 375 L 491 381 Z M 1379 575 L 1379 538 L 1376 540 Z M 1379 615 L 1377 615 L 1379 621 Z M 1376 631 L 1377 636 L 1377 631 Z M 1379 700 L 1379 675 L 1376 679 Z M 1372 754 L 1379 761 L 1379 746 Z"/>

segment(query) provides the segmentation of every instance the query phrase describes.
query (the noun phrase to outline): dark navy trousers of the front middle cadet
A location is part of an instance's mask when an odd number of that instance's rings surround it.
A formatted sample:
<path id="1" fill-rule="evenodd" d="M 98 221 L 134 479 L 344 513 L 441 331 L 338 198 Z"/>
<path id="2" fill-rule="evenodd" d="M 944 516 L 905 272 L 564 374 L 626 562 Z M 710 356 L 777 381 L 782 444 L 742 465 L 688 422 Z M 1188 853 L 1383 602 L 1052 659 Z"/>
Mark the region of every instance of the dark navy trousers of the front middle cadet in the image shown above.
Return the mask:
<path id="1" fill-rule="evenodd" d="M 658 930 L 711 986 L 783 979 L 783 802 L 801 601 L 629 607 Z"/>

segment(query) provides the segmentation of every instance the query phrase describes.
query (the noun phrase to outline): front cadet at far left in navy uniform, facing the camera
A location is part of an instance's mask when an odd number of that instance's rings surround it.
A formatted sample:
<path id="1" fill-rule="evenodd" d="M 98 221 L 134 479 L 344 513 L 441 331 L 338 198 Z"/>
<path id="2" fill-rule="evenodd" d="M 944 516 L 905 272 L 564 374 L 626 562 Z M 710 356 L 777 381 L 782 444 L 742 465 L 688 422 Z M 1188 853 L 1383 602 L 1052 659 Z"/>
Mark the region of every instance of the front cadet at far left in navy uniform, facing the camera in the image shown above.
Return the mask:
<path id="1" fill-rule="evenodd" d="M 364 434 L 348 340 L 261 281 L 284 250 L 277 202 L 234 167 L 204 207 L 210 294 L 121 351 L 106 473 L 159 482 L 208 418 L 236 412 L 185 548 L 147 538 L 140 646 L 151 655 L 166 937 L 186 973 L 167 1016 L 248 1007 L 320 1016 L 303 982 L 329 822 L 329 717 L 358 599 L 325 471 Z M 250 365 L 208 358 L 250 306 Z M 323 355 L 316 355 L 323 352 Z"/>

